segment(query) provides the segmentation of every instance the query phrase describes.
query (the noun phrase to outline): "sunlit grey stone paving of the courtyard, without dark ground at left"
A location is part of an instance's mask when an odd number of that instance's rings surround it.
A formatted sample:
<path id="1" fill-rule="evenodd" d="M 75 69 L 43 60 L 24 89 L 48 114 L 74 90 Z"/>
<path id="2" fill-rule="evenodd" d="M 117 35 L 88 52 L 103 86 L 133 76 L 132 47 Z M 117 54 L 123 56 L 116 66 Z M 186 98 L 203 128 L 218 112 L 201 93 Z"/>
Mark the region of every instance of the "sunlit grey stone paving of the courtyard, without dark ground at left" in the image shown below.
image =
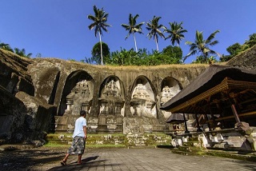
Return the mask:
<path id="1" fill-rule="evenodd" d="M 256 170 L 256 162 L 224 157 L 186 156 L 171 153 L 170 149 L 87 149 L 82 156 L 82 165 L 76 163 L 77 156 L 70 156 L 69 159 L 67 165 L 55 163 L 48 170 Z"/>

